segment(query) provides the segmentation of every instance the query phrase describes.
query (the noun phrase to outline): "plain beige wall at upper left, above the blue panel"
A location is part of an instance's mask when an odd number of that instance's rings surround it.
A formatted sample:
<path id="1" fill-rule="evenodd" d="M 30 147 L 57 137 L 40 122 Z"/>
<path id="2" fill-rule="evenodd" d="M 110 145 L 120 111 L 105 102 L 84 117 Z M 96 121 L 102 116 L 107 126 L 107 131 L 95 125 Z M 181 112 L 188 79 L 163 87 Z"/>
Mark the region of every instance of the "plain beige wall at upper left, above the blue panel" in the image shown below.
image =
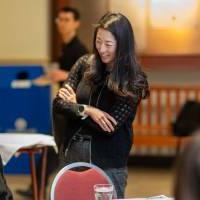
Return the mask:
<path id="1" fill-rule="evenodd" d="M 0 62 L 49 59 L 48 0 L 1 0 Z"/>

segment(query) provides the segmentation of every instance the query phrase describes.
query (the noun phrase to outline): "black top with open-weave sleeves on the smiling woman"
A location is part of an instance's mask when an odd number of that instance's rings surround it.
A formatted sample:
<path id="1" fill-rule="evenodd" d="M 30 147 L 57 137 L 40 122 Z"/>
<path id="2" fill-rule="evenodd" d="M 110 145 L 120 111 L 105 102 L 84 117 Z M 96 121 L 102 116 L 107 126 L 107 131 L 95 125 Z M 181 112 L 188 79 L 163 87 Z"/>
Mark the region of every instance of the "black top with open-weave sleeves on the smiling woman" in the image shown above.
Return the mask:
<path id="1" fill-rule="evenodd" d="M 89 65 L 89 57 L 90 55 L 85 55 L 76 62 L 68 80 L 64 83 L 75 90 L 78 103 L 67 103 L 56 97 L 53 107 L 56 112 L 68 116 L 66 135 L 73 135 L 80 127 L 82 127 L 81 134 L 92 135 L 94 164 L 104 169 L 125 167 L 132 145 L 132 122 L 139 98 L 116 95 L 107 88 L 106 77 L 101 84 L 89 84 L 83 78 Z M 109 113 L 117 121 L 115 131 L 112 133 L 103 131 L 90 117 L 82 120 L 77 114 L 80 104 L 91 105 Z"/>

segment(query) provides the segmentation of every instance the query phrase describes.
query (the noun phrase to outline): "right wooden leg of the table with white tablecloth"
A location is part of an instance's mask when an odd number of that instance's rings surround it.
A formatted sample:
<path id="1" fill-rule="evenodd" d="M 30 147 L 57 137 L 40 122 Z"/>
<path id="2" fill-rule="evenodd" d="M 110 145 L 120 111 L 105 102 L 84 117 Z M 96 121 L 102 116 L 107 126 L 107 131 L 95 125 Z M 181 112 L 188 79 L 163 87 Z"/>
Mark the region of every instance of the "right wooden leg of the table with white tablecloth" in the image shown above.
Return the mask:
<path id="1" fill-rule="evenodd" d="M 42 148 L 41 155 L 42 155 L 42 169 L 41 169 L 41 184 L 40 184 L 39 200 L 44 200 L 46 166 L 47 166 L 47 147 Z"/>

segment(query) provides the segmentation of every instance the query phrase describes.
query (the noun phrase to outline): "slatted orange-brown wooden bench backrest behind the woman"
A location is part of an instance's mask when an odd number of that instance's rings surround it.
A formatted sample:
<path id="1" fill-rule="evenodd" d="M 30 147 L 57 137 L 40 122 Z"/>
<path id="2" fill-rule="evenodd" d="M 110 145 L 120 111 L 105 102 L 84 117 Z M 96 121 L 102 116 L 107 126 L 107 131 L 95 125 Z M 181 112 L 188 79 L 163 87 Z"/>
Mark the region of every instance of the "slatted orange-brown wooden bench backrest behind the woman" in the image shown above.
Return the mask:
<path id="1" fill-rule="evenodd" d="M 184 103 L 187 100 L 200 101 L 199 85 L 151 85 L 150 92 L 150 98 L 138 107 L 134 120 L 135 134 L 172 134 L 171 123 Z"/>

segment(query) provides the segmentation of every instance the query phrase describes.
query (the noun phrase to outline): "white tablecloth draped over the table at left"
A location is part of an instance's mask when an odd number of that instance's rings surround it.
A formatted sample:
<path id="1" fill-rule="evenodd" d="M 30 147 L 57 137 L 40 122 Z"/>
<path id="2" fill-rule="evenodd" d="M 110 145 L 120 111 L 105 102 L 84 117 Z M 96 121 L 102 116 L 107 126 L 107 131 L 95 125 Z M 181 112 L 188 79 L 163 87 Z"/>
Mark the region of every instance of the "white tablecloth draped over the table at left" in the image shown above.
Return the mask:
<path id="1" fill-rule="evenodd" d="M 6 165 L 19 149 L 33 145 L 53 146 L 56 148 L 53 136 L 39 133 L 0 133 L 0 154 L 3 164 Z"/>

